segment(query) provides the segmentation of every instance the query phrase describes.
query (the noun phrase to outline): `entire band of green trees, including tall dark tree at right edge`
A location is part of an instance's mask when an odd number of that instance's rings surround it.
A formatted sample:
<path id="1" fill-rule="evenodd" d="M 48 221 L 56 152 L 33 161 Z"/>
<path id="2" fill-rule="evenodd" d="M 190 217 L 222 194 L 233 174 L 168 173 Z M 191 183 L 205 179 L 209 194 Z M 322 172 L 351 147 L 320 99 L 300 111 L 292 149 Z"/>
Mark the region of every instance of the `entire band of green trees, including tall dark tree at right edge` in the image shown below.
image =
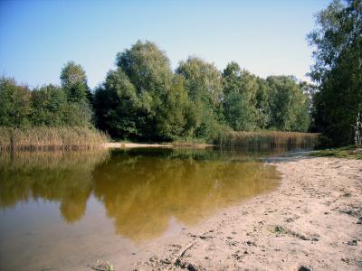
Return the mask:
<path id="1" fill-rule="evenodd" d="M 73 61 L 62 68 L 60 86 L 30 89 L 2 77 L 0 126 L 78 127 L 131 141 L 210 143 L 231 131 L 311 131 L 321 133 L 324 145 L 353 144 L 362 130 L 361 3 L 334 1 L 317 15 L 308 35 L 313 84 L 285 75 L 262 79 L 235 61 L 218 70 L 197 57 L 172 70 L 156 43 L 138 41 L 117 53 L 116 67 L 95 89 Z"/>

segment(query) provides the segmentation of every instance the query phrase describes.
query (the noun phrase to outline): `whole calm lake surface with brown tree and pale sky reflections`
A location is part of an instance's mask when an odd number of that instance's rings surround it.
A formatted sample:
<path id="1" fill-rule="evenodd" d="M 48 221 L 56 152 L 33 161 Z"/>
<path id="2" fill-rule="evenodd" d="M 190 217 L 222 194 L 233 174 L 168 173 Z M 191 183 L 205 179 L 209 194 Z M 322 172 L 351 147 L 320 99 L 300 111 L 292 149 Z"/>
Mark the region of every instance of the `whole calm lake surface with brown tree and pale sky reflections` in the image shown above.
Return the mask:
<path id="1" fill-rule="evenodd" d="M 271 192 L 284 153 L 130 149 L 0 155 L 0 270 L 70 270 Z"/>

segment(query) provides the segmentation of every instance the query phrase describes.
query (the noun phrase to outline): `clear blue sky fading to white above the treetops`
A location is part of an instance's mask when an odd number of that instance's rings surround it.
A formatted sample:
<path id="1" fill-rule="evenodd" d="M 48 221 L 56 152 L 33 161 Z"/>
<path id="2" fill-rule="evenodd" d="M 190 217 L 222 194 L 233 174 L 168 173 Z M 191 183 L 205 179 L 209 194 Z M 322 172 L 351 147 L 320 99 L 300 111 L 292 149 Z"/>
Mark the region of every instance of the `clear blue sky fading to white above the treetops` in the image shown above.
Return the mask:
<path id="1" fill-rule="evenodd" d="M 36 87 L 59 83 L 66 61 L 90 87 L 114 68 L 116 53 L 156 42 L 172 68 L 195 55 L 223 70 L 229 61 L 259 76 L 307 79 L 306 34 L 330 0 L 0 0 L 0 75 Z"/>

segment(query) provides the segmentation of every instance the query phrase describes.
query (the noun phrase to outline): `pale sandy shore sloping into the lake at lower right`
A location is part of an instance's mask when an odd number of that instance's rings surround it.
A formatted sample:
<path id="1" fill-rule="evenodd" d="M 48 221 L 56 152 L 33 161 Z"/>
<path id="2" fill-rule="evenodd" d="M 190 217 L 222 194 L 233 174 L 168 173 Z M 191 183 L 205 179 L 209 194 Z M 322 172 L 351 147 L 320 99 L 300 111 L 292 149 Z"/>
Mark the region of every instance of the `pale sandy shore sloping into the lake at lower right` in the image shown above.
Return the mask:
<path id="1" fill-rule="evenodd" d="M 121 269 L 361 270 L 362 162 L 276 164 L 281 186 L 161 238 Z M 190 199 L 192 201 L 192 199 Z M 120 270 L 120 269 L 119 269 Z"/>

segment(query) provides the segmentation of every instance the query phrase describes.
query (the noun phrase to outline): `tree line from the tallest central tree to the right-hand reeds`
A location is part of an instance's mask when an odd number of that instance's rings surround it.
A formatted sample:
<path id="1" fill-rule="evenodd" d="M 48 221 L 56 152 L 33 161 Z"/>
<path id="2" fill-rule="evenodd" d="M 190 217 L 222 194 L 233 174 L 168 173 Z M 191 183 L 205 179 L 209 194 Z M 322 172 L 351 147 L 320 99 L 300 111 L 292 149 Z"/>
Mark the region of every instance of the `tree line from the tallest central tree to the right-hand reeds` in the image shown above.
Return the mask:
<path id="1" fill-rule="evenodd" d="M 140 41 L 118 53 L 116 65 L 93 101 L 97 125 L 112 136 L 209 140 L 227 129 L 309 126 L 305 84 L 293 77 L 261 79 L 235 62 L 221 72 L 196 57 L 173 71 L 164 51 Z"/>

